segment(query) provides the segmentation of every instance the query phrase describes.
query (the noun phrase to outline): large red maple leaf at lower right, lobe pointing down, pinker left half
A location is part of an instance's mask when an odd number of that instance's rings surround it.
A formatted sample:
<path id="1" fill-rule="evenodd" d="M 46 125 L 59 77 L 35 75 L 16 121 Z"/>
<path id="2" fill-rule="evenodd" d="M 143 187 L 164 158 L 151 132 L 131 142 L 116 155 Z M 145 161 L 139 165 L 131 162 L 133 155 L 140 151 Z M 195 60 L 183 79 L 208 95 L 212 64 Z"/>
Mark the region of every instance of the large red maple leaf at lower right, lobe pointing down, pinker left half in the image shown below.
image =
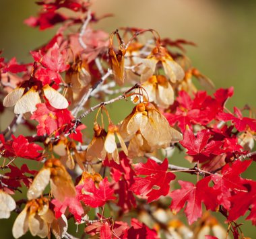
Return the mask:
<path id="1" fill-rule="evenodd" d="M 172 212 L 176 214 L 185 207 L 185 203 L 187 201 L 185 213 L 187 220 L 191 225 L 197 220 L 197 218 L 201 217 L 201 202 L 205 204 L 207 209 L 215 211 L 218 205 L 216 199 L 218 193 L 208 186 L 210 180 L 211 177 L 206 177 L 205 179 L 198 181 L 196 185 L 179 180 L 178 182 L 181 185 L 181 189 L 174 190 L 170 193 L 170 197 L 172 197 L 170 209 L 172 209 Z"/>

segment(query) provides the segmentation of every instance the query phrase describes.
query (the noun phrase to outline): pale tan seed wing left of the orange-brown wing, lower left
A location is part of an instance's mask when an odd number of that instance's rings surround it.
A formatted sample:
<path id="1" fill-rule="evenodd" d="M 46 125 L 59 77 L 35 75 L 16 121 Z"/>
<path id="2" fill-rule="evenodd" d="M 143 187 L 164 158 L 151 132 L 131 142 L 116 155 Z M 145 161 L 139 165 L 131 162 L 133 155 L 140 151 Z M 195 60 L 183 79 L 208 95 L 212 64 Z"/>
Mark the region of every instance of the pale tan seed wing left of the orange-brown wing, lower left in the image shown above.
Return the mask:
<path id="1" fill-rule="evenodd" d="M 34 178 L 32 185 L 28 189 L 27 197 L 29 200 L 36 199 L 42 195 L 42 192 L 49 184 L 51 176 L 50 169 L 41 169 Z"/>

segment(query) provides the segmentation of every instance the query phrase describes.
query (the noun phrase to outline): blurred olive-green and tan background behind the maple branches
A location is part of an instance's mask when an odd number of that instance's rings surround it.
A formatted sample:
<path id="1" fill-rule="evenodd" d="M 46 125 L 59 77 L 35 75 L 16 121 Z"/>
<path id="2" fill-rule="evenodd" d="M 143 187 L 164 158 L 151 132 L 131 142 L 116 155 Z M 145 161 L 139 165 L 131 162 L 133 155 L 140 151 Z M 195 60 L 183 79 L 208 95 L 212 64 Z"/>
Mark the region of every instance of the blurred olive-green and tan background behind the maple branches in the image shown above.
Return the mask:
<path id="1" fill-rule="evenodd" d="M 98 0 L 93 9 L 97 15 L 114 14 L 96 26 L 109 33 L 121 26 L 135 26 L 154 28 L 163 38 L 168 36 L 172 40 L 184 38 L 195 42 L 196 48 L 187 46 L 187 55 L 194 66 L 210 77 L 217 88 L 234 86 L 234 97 L 228 102 L 230 109 L 247 103 L 255 107 L 255 0 Z M 0 49 L 4 50 L 4 57 L 16 56 L 20 62 L 30 62 L 32 58 L 28 52 L 53 36 L 54 29 L 39 32 L 24 25 L 24 19 L 36 15 L 37 10 L 34 1 L 0 0 Z M 116 120 L 121 120 L 131 111 L 131 107 L 120 110 L 120 105 L 109 107 L 110 115 L 115 115 Z M 1 130 L 11 119 L 12 116 L 7 118 L 6 115 L 0 118 Z M 92 119 L 93 115 L 88 117 L 88 124 Z M 251 169 L 251 174 L 245 177 L 255 179 L 255 173 Z M 12 218 L 15 217 L 12 213 Z M 1 220 L 0 238 L 12 238 L 11 226 L 10 220 Z M 251 222 L 245 222 L 242 228 L 245 236 L 256 238 Z M 24 238 L 30 238 L 30 234 Z"/>

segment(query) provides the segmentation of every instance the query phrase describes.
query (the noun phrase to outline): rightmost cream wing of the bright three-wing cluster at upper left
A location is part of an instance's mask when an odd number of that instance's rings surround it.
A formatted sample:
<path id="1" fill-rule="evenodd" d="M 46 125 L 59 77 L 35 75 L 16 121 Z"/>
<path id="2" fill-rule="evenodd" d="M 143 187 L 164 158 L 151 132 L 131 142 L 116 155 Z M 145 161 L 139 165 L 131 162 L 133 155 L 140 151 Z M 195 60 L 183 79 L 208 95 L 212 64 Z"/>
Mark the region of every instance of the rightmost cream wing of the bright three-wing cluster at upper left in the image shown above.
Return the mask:
<path id="1" fill-rule="evenodd" d="M 44 91 L 44 96 L 48 99 L 50 105 L 56 109 L 66 109 L 69 106 L 67 99 L 49 85 L 44 85 L 42 90 Z"/>

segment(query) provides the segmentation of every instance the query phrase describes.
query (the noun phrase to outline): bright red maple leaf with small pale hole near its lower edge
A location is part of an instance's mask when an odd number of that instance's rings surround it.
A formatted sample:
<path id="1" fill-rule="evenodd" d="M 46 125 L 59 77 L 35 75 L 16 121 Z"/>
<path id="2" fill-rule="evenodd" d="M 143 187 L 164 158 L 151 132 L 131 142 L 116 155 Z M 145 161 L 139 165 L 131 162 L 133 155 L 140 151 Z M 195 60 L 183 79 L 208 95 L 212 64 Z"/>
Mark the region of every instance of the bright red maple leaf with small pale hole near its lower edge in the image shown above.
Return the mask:
<path id="1" fill-rule="evenodd" d="M 148 197 L 148 203 L 158 199 L 160 196 L 166 196 L 170 189 L 170 181 L 175 179 L 173 173 L 167 172 L 168 160 L 165 159 L 162 164 L 148 158 L 148 162 L 135 164 L 137 175 L 148 175 L 147 177 L 135 177 L 135 183 L 131 185 L 130 190 L 136 195 Z"/>

